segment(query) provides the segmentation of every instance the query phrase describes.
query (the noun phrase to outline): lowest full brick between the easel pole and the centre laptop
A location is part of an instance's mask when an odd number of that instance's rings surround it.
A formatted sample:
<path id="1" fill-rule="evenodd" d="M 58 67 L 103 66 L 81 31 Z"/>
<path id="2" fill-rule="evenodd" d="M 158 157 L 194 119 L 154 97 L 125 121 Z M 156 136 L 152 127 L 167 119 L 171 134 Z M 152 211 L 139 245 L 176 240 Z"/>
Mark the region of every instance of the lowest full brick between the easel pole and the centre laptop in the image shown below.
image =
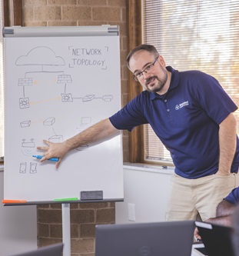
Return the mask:
<path id="1" fill-rule="evenodd" d="M 75 253 L 90 253 L 94 252 L 94 249 L 94 238 L 71 239 L 71 251 Z"/>

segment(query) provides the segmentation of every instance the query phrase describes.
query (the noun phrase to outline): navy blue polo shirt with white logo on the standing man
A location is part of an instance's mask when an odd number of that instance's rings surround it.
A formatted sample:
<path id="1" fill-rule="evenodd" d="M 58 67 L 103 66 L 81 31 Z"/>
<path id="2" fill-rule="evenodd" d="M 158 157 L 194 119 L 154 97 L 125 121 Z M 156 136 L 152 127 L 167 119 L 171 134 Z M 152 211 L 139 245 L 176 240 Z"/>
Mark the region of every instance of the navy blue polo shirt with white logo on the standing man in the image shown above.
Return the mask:
<path id="1" fill-rule="evenodd" d="M 201 71 L 171 71 L 165 95 L 142 91 L 110 118 L 117 129 L 150 124 L 171 153 L 175 173 L 200 178 L 217 172 L 218 129 L 237 106 L 218 81 Z M 239 165 L 239 141 L 231 172 Z"/>

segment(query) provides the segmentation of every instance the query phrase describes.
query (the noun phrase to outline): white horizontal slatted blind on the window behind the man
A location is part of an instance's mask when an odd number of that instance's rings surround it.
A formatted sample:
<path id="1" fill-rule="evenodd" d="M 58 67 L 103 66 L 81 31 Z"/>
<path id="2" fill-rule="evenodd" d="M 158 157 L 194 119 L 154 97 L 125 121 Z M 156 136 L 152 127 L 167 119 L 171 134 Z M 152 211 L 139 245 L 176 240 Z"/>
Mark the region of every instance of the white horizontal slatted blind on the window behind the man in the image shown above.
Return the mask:
<path id="1" fill-rule="evenodd" d="M 166 65 L 214 76 L 239 105 L 239 2 L 237 0 L 142 0 L 143 42 Z M 239 131 L 239 111 L 237 134 Z M 144 161 L 171 162 L 169 152 L 144 125 Z"/>

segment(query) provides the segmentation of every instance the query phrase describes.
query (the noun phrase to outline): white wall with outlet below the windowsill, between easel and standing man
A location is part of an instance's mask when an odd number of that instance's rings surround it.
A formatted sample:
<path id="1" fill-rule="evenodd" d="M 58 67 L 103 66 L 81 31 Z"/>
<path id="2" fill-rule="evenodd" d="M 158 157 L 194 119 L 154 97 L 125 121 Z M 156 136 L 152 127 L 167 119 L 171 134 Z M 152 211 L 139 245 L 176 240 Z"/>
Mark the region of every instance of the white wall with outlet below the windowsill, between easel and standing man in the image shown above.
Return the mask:
<path id="1" fill-rule="evenodd" d="M 173 168 L 124 164 L 124 202 L 115 204 L 115 222 L 165 221 Z"/>

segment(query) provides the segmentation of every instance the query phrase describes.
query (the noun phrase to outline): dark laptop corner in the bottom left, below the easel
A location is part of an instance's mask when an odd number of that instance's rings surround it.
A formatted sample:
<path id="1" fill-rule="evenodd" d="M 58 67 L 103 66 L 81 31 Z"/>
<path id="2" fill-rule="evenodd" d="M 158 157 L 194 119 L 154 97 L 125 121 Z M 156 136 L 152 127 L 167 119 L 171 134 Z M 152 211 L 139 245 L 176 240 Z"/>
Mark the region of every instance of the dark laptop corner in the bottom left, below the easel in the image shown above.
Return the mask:
<path id="1" fill-rule="evenodd" d="M 61 256 L 63 251 L 63 244 L 52 244 L 45 247 L 38 248 L 34 251 L 27 251 L 21 254 L 12 256 Z"/>

